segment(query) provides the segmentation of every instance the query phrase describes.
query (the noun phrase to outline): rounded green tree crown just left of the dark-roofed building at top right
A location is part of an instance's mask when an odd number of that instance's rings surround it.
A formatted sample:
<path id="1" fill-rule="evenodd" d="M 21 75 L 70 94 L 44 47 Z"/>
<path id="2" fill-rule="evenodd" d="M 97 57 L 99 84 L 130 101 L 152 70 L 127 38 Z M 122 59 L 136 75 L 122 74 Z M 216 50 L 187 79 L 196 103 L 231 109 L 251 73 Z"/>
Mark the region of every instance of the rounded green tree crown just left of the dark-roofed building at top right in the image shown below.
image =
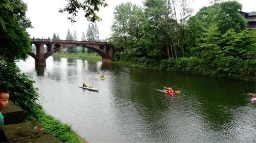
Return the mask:
<path id="1" fill-rule="evenodd" d="M 230 28 L 239 33 L 246 27 L 246 20 L 239 12 L 241 9 L 242 5 L 237 1 L 228 1 L 203 7 L 196 16 L 205 28 L 215 23 L 221 34 L 225 34 Z"/>

